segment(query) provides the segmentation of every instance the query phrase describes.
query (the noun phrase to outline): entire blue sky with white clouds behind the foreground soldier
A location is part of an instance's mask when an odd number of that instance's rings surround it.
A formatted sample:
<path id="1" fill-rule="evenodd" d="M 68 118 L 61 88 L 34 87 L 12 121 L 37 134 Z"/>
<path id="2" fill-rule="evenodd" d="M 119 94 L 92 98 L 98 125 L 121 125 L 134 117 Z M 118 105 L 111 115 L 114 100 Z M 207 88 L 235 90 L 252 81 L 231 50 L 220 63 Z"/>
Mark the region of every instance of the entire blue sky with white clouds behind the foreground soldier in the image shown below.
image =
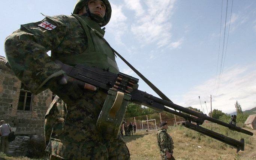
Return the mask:
<path id="1" fill-rule="evenodd" d="M 42 20 L 40 13 L 70 15 L 75 3 L 1 1 L 0 55 L 6 57 L 4 39 L 20 24 Z M 227 19 L 226 0 L 110 3 L 112 17 L 105 39 L 174 103 L 201 109 L 201 96 L 206 113 L 204 101 L 209 112 L 212 94 L 213 109 L 225 113 L 235 111 L 236 100 L 243 111 L 256 107 L 256 1 L 234 0 L 232 6 L 229 0 Z M 117 63 L 121 72 L 138 78 L 119 58 Z M 139 89 L 156 96 L 142 80 Z"/>

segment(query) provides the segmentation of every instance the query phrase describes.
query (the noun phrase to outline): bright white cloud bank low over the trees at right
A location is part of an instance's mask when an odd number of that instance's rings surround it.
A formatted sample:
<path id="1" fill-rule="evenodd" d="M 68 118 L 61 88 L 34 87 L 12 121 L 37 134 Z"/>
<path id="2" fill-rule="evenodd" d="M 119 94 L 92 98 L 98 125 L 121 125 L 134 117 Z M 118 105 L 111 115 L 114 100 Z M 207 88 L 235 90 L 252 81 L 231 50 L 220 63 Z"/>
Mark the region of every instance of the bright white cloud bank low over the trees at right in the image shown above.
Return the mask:
<path id="1" fill-rule="evenodd" d="M 198 99 L 198 96 L 201 96 L 205 112 L 205 100 L 207 101 L 209 111 L 210 94 L 215 94 L 213 93 L 215 88 L 214 82 L 215 78 L 209 79 L 202 85 L 193 87 L 183 97 L 183 106 L 201 109 Z M 225 113 L 234 112 L 236 101 L 240 103 L 243 111 L 256 106 L 256 65 L 233 66 L 223 73 L 218 94 L 216 96 L 213 95 L 213 109 L 219 109 Z"/>

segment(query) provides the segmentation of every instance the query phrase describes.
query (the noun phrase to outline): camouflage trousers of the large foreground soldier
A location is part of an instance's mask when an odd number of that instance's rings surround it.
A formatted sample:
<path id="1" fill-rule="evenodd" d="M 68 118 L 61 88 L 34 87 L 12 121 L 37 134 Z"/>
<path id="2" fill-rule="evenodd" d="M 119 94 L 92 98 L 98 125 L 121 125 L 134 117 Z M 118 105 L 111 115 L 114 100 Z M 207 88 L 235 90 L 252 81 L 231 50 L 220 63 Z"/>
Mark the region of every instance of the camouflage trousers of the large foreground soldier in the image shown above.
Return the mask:
<path id="1" fill-rule="evenodd" d="M 45 151 L 52 159 L 130 159 L 121 135 L 106 140 L 96 127 L 105 97 L 101 91 L 71 103 L 55 97 L 45 116 Z"/>

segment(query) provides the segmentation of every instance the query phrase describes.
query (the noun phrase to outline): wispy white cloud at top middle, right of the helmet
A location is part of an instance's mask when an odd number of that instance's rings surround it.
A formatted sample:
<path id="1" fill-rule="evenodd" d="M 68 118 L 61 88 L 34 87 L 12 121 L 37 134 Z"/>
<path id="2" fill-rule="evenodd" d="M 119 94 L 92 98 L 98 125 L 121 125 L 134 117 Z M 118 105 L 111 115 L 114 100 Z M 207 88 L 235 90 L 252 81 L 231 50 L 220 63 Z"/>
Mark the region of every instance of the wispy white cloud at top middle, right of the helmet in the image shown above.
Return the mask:
<path id="1" fill-rule="evenodd" d="M 131 4 L 133 1 L 136 2 Z M 175 0 L 147 0 L 144 8 L 138 0 L 125 2 L 127 8 L 136 13 L 131 31 L 139 42 L 144 45 L 156 43 L 158 47 L 172 43 L 169 18 L 174 12 Z"/>

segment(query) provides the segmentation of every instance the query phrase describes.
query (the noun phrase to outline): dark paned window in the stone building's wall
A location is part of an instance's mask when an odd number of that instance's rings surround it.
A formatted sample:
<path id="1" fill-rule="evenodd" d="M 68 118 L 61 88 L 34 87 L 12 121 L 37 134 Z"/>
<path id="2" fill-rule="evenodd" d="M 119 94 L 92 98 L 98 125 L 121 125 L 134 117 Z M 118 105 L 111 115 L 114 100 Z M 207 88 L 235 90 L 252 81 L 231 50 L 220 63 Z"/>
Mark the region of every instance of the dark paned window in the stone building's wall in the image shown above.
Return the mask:
<path id="1" fill-rule="evenodd" d="M 21 83 L 21 91 L 19 93 L 18 110 L 31 111 L 32 108 L 32 93 Z"/>

